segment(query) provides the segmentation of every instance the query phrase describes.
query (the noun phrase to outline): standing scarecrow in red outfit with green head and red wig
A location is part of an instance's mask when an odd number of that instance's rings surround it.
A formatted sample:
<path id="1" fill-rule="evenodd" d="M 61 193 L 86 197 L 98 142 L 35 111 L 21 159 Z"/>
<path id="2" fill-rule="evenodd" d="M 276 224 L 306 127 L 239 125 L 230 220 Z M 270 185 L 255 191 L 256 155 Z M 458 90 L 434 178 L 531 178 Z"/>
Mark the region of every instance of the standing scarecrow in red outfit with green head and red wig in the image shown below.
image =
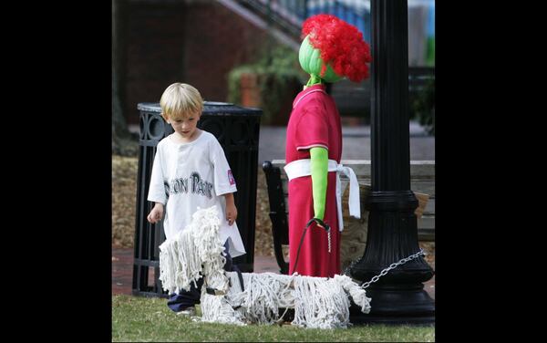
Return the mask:
<path id="1" fill-rule="evenodd" d="M 310 74 L 293 102 L 287 126 L 285 172 L 289 179 L 289 275 L 340 274 L 342 189 L 350 180 L 349 213 L 360 218 L 355 173 L 340 164 L 342 129 L 325 83 L 368 78 L 370 47 L 356 26 L 329 15 L 304 21 L 299 61 Z"/>

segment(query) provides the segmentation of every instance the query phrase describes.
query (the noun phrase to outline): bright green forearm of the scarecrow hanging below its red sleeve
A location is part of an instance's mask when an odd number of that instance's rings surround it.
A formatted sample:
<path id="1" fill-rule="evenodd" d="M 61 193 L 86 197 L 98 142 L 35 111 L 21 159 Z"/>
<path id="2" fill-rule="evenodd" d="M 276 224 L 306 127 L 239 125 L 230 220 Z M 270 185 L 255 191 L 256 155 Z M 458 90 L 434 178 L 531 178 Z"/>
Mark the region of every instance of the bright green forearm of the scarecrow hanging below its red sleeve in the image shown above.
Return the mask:
<path id="1" fill-rule="evenodd" d="M 312 187 L 314 192 L 315 218 L 325 217 L 326 183 L 328 178 L 328 151 L 325 148 L 310 149 Z"/>

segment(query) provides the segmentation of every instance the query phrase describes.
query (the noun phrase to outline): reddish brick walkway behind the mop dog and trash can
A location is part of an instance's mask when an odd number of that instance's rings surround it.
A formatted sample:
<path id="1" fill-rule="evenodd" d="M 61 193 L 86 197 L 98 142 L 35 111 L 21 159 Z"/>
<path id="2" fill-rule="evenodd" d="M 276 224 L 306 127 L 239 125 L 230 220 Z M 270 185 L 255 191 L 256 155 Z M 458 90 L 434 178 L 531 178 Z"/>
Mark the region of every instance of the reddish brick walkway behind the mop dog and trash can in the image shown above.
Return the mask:
<path id="1" fill-rule="evenodd" d="M 255 273 L 279 273 L 279 267 L 272 256 L 254 256 Z M 112 294 L 131 294 L 133 275 L 133 249 L 117 249 L 112 247 Z M 150 275 L 149 284 L 153 284 Z M 424 284 L 429 296 L 435 298 L 435 276 Z"/>

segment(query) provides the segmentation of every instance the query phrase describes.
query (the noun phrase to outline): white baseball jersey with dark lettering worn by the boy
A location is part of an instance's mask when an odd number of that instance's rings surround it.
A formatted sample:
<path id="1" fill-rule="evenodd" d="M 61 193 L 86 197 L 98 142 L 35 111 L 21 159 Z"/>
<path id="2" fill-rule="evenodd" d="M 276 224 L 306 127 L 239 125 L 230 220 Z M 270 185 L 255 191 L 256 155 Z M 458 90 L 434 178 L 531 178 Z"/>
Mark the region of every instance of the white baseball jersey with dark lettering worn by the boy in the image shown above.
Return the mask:
<path id="1" fill-rule="evenodd" d="M 163 229 L 171 239 L 191 223 L 200 208 L 216 205 L 221 219 L 222 242 L 230 241 L 230 255 L 245 254 L 237 224 L 226 220 L 226 200 L 222 194 L 237 192 L 230 165 L 219 141 L 201 130 L 196 140 L 175 142 L 172 135 L 160 140 L 150 175 L 148 200 L 163 203 Z"/>

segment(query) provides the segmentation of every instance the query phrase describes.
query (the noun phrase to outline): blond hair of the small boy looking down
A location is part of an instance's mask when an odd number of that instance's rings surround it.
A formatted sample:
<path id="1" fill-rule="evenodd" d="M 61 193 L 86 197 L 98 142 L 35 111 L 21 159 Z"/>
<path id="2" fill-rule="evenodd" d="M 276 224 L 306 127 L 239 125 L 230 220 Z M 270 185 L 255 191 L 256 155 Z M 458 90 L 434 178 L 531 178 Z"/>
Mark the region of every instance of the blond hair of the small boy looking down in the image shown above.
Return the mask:
<path id="1" fill-rule="evenodd" d="M 160 106 L 164 120 L 186 119 L 191 114 L 201 115 L 203 99 L 198 89 L 176 82 L 165 89 L 161 95 Z"/>

